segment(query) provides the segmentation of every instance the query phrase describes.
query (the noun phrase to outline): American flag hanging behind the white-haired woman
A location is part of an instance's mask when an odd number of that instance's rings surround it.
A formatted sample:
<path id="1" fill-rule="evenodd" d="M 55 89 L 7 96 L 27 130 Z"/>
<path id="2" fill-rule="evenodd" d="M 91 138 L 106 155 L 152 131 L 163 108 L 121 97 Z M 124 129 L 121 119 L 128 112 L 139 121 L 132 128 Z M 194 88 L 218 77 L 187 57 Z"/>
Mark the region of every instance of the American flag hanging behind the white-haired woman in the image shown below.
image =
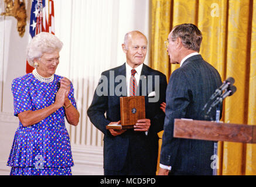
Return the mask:
<path id="1" fill-rule="evenodd" d="M 54 34 L 54 5 L 53 0 L 33 0 L 30 13 L 30 40 L 40 32 Z M 26 63 L 26 73 L 33 67 Z"/>

